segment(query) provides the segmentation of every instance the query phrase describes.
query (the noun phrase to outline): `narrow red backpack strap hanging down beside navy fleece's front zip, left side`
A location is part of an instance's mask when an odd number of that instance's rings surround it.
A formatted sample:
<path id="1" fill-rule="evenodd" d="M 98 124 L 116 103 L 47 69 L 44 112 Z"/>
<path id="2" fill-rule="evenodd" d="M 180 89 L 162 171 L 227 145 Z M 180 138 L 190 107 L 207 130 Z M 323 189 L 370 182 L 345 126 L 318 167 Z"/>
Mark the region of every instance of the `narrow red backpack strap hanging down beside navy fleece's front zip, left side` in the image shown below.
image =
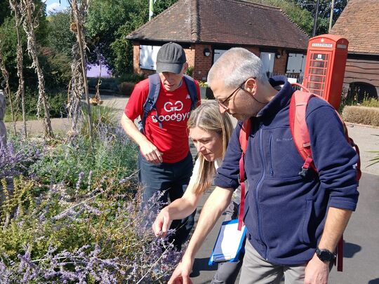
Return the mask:
<path id="1" fill-rule="evenodd" d="M 241 231 L 244 224 L 245 208 L 245 154 L 248 146 L 248 136 L 251 130 L 251 120 L 246 119 L 239 130 L 239 144 L 241 144 L 242 154 L 239 159 L 239 183 L 241 184 L 241 202 L 239 203 L 238 230 Z"/>

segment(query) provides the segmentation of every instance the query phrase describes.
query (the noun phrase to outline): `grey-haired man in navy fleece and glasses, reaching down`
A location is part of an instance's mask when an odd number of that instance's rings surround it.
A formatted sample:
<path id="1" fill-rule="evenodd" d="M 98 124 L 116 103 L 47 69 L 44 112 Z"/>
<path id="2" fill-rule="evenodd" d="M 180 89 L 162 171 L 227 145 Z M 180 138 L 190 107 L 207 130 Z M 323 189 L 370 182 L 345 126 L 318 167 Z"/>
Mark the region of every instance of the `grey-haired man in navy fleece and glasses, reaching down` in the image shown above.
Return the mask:
<path id="1" fill-rule="evenodd" d="M 208 83 L 221 112 L 252 120 L 245 158 L 248 229 L 240 283 L 327 283 L 335 246 L 358 201 L 358 157 L 347 143 L 333 107 L 319 98 L 307 106 L 306 123 L 318 173 L 299 175 L 304 161 L 289 128 L 293 88 L 286 77 L 267 79 L 262 62 L 232 48 L 211 68 Z M 237 124 L 217 186 L 201 210 L 182 262 L 168 283 L 190 283 L 194 255 L 239 186 L 241 146 Z"/>

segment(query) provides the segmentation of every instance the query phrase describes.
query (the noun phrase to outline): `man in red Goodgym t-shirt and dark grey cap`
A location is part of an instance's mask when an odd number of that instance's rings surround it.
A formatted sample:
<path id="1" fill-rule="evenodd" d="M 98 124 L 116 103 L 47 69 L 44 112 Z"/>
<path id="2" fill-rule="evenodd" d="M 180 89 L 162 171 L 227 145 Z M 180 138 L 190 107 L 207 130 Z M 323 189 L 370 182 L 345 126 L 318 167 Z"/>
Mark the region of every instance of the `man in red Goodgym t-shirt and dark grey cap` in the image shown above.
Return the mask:
<path id="1" fill-rule="evenodd" d="M 145 191 L 143 203 L 159 191 L 161 201 L 167 203 L 182 197 L 192 175 L 192 156 L 189 152 L 187 120 L 192 100 L 183 74 L 188 68 L 185 51 L 177 43 L 166 43 L 157 54 L 157 73 L 161 79 L 155 109 L 149 112 L 144 133 L 138 130 L 134 120 L 143 116 L 143 106 L 149 94 L 149 79 L 141 81 L 133 90 L 121 118 L 121 126 L 140 147 L 138 156 L 139 179 Z M 197 97 L 200 102 L 199 85 Z M 174 221 L 171 228 L 178 228 L 174 245 L 180 249 L 187 240 L 194 223 L 194 214 Z"/>

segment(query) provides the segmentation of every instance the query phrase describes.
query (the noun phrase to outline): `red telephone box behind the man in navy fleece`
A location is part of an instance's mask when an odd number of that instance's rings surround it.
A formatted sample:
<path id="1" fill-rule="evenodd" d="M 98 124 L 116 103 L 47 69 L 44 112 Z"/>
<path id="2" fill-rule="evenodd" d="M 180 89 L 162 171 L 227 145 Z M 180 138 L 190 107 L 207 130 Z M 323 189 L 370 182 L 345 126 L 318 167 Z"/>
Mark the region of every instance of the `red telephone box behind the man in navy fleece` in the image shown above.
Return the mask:
<path id="1" fill-rule="evenodd" d="M 334 34 L 314 36 L 308 43 L 302 84 L 335 109 L 340 107 L 348 45 L 347 39 Z"/>

